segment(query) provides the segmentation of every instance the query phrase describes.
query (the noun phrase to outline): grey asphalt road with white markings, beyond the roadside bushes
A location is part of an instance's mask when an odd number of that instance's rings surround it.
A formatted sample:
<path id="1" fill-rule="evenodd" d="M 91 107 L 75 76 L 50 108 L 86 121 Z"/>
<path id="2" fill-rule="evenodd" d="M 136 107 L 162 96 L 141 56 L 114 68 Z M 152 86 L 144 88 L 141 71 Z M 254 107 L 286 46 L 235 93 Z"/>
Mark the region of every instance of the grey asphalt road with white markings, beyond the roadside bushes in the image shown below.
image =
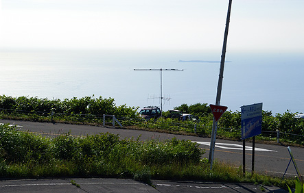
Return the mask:
<path id="1" fill-rule="evenodd" d="M 30 131 L 33 133 L 38 133 L 47 136 L 57 136 L 62 133 L 70 132 L 73 136 L 86 136 L 93 135 L 97 133 L 114 133 L 118 134 L 121 139 L 124 138 L 137 138 L 139 137 L 141 140 L 167 140 L 171 138 L 178 138 L 180 140 L 191 140 L 193 142 L 198 142 L 200 144 L 200 148 L 204 149 L 206 153 L 204 157 L 209 156 L 209 144 L 210 138 L 199 138 L 194 136 L 180 136 L 180 135 L 172 135 L 167 133 L 156 133 L 150 131 L 139 131 L 139 130 L 130 130 L 130 129 L 116 129 L 113 127 L 95 127 L 95 126 L 87 126 L 87 125 L 69 125 L 69 124 L 53 124 L 53 123 L 36 123 L 36 122 L 27 122 L 27 121 L 19 121 L 19 120 L 0 120 L 0 123 L 10 123 L 12 125 L 18 125 L 21 130 Z M 304 153 L 303 148 L 301 147 L 290 147 L 292 150 L 292 154 L 294 155 L 294 159 L 296 161 L 296 165 L 299 168 L 301 174 L 304 173 Z M 214 159 L 218 159 L 223 162 L 228 162 L 234 164 L 235 166 L 242 165 L 242 142 L 228 141 L 228 140 L 216 140 L 215 143 L 215 154 Z M 252 144 L 246 142 L 246 170 L 251 170 L 251 159 L 252 159 Z M 277 177 L 283 177 L 283 174 L 290 162 L 290 155 L 288 153 L 288 149 L 286 146 L 281 145 L 269 145 L 269 144 L 255 144 L 255 171 L 260 173 L 266 173 L 268 175 L 274 175 Z M 296 170 L 294 169 L 294 165 L 292 162 L 288 167 L 286 176 L 294 177 L 296 176 Z M 136 182 L 137 183 L 137 182 Z M 155 183 L 154 183 L 155 184 Z M 161 183 L 159 183 L 161 184 Z M 166 183 L 163 183 L 166 184 Z M 185 192 L 188 189 L 194 186 L 200 185 L 174 185 L 175 183 L 170 183 L 167 185 L 156 185 L 157 190 L 162 190 L 161 192 L 172 192 L 172 188 L 178 188 L 182 190 L 181 192 Z M 222 185 L 222 184 L 221 184 Z M 207 185 L 208 186 L 208 185 Z M 0 183 L 1 187 L 1 183 Z M 157 188 L 158 187 L 158 188 Z M 167 188 L 171 191 L 167 191 Z M 209 185 L 208 187 L 211 187 Z M 219 187 L 226 187 L 219 186 Z M 0 192 L 1 192 L 0 188 Z M 207 189 L 207 188 L 200 188 Z M 214 188 L 215 189 L 215 188 Z M 219 188 L 218 188 L 219 189 Z M 239 188 L 242 189 L 242 188 Z M 78 189 L 77 189 L 78 190 Z M 196 190 L 196 188 L 194 188 Z M 191 190 L 194 191 L 194 190 Z M 211 190 L 211 188 L 210 188 Z M 231 188 L 229 190 L 232 191 Z M 238 190 L 238 189 L 235 189 Z M 225 192 L 228 191 L 225 189 Z M 68 191 L 69 192 L 69 191 Z M 119 191 L 114 191 L 119 192 Z M 145 191 L 143 191 L 145 192 Z M 146 191 L 147 192 L 147 191 Z M 150 192 L 150 190 L 148 190 Z M 174 191 L 176 192 L 176 191 Z M 177 192 L 179 192 L 177 190 Z M 189 191 L 187 191 L 189 192 Z M 208 191 L 209 192 L 209 191 Z M 250 190 L 250 192 L 255 192 Z"/>

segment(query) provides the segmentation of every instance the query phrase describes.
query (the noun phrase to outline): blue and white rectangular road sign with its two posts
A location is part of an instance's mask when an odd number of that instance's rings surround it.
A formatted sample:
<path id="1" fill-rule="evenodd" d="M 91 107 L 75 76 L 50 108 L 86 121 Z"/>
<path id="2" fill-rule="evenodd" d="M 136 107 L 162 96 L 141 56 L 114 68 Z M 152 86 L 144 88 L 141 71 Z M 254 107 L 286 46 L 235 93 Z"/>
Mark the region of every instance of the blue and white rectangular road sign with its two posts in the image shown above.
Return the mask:
<path id="1" fill-rule="evenodd" d="M 241 107 L 242 140 L 243 140 L 243 174 L 245 175 L 245 140 L 253 137 L 252 174 L 255 170 L 255 136 L 261 134 L 263 103 Z"/>

